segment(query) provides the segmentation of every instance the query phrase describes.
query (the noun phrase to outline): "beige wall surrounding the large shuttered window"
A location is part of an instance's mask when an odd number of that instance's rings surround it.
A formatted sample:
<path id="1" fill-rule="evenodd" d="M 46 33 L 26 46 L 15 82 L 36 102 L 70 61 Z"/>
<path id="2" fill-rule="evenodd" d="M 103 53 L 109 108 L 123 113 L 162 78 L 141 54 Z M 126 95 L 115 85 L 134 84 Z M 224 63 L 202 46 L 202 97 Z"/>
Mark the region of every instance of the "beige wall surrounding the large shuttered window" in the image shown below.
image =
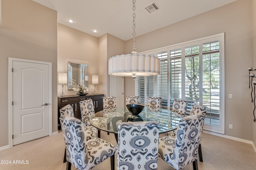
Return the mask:
<path id="1" fill-rule="evenodd" d="M 252 119 L 253 110 L 247 70 L 252 66 L 251 5 L 251 0 L 238 0 L 136 37 L 136 49 L 138 52 L 143 52 L 224 32 L 225 135 L 250 141 L 252 140 L 252 123 L 254 127 L 256 124 Z M 126 41 L 125 45 L 126 53 L 130 53 L 132 40 Z M 126 90 L 128 88 L 129 86 L 126 86 Z M 228 94 L 233 94 L 233 99 L 229 99 Z M 233 124 L 233 129 L 228 128 L 229 124 Z"/>

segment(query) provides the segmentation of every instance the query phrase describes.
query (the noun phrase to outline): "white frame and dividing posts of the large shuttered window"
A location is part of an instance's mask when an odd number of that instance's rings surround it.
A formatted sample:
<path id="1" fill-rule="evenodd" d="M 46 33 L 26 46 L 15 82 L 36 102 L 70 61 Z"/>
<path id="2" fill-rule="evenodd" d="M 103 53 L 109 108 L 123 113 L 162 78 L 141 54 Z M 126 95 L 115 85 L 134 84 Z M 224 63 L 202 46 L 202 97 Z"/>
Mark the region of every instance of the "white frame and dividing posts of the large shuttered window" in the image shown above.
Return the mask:
<path id="1" fill-rule="evenodd" d="M 202 45 L 205 43 L 209 43 L 209 42 L 213 42 L 218 40 L 220 43 L 220 49 L 219 49 L 219 54 L 220 54 L 220 125 L 219 126 L 214 126 L 214 125 L 208 125 L 208 124 L 204 124 L 204 129 L 207 131 L 212 131 L 212 132 L 216 132 L 216 133 L 221 133 L 224 134 L 224 127 L 225 127 L 225 72 L 224 72 L 224 33 L 219 33 L 216 35 L 211 35 L 208 37 L 202 37 L 199 39 L 194 39 L 191 41 L 186 41 L 183 43 L 178 43 L 178 44 L 174 44 L 174 45 L 169 45 L 166 47 L 161 47 L 158 49 L 153 49 L 153 50 L 149 50 L 149 51 L 144 51 L 142 52 L 143 54 L 155 54 L 155 56 L 158 56 L 158 53 L 162 53 L 164 51 L 167 51 L 168 54 L 168 60 L 169 60 L 169 56 L 170 56 L 170 50 L 174 49 L 174 48 L 182 48 L 182 51 L 185 50 L 186 47 L 190 46 L 190 45 L 199 45 L 200 46 L 200 52 L 199 52 L 199 64 L 200 64 L 200 68 L 202 68 Z M 199 42 L 199 43 L 198 43 Z M 142 54 L 139 53 L 139 54 Z M 185 76 L 185 54 L 182 54 L 182 77 Z M 168 62 L 168 67 L 170 66 L 170 61 Z M 168 87 L 170 87 L 170 71 L 168 71 L 167 73 L 168 75 Z M 145 82 L 147 82 L 148 77 L 144 77 Z M 157 76 L 155 76 L 155 92 L 154 95 L 158 96 L 157 94 Z M 200 70 L 200 83 L 202 83 L 202 70 Z M 136 95 L 138 94 L 138 89 L 137 89 L 137 79 L 136 79 L 136 83 L 135 83 L 135 89 L 136 89 Z M 146 84 L 144 86 L 144 90 L 146 92 Z M 168 101 L 171 100 L 171 94 L 170 94 L 170 89 L 168 90 Z M 182 99 L 185 99 L 185 78 L 182 78 Z M 200 86 L 200 94 L 202 94 L 202 86 Z M 200 95 L 201 97 L 202 95 Z M 145 93 L 144 96 L 144 102 L 146 104 L 147 102 L 147 94 Z M 202 105 L 202 99 L 200 100 L 200 105 Z M 170 109 L 170 102 L 168 102 L 167 104 L 167 108 Z"/>

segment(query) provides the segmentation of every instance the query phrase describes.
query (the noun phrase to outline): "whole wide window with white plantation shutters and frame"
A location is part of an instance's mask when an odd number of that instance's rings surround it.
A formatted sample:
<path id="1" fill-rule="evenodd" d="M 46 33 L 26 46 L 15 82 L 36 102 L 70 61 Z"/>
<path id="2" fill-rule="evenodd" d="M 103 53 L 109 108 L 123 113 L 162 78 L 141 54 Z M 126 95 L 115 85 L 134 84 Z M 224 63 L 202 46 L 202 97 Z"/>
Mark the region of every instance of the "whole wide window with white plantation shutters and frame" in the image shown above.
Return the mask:
<path id="1" fill-rule="evenodd" d="M 143 52 L 160 59 L 160 74 L 137 77 L 136 93 L 147 104 L 161 97 L 170 109 L 174 99 L 206 107 L 204 129 L 224 133 L 224 33 Z"/>

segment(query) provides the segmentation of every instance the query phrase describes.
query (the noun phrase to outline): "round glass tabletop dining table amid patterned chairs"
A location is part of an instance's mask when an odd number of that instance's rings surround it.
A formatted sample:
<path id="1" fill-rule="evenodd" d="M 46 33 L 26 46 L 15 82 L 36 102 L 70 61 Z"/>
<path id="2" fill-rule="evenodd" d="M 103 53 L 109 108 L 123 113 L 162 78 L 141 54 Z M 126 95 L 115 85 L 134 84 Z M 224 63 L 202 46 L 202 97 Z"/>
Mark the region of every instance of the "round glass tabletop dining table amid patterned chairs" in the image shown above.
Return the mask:
<path id="1" fill-rule="evenodd" d="M 90 123 L 99 130 L 114 133 L 116 140 L 118 134 L 118 123 L 129 121 L 156 121 L 159 123 L 159 133 L 165 133 L 177 129 L 178 123 L 182 118 L 177 113 L 168 109 L 161 109 L 161 111 L 149 111 L 144 107 L 138 115 L 132 115 L 130 111 L 124 113 L 111 112 L 110 117 L 106 118 L 106 125 L 99 125 L 98 117 L 95 115 L 90 118 Z"/>

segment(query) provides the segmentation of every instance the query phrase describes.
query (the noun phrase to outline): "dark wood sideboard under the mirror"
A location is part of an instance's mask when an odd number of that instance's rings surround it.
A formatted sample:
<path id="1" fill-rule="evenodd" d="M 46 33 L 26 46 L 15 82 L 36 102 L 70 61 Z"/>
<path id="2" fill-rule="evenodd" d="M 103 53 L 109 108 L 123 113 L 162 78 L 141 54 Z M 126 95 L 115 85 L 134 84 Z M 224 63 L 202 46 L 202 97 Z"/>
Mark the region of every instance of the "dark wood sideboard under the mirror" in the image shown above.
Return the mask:
<path id="1" fill-rule="evenodd" d="M 82 100 L 92 99 L 94 104 L 95 113 L 103 110 L 103 97 L 104 94 L 86 94 L 86 96 L 78 95 L 67 95 L 64 97 L 58 96 L 58 129 L 60 130 L 60 109 L 68 104 L 73 107 L 74 116 L 78 119 L 81 119 L 80 104 Z"/>

